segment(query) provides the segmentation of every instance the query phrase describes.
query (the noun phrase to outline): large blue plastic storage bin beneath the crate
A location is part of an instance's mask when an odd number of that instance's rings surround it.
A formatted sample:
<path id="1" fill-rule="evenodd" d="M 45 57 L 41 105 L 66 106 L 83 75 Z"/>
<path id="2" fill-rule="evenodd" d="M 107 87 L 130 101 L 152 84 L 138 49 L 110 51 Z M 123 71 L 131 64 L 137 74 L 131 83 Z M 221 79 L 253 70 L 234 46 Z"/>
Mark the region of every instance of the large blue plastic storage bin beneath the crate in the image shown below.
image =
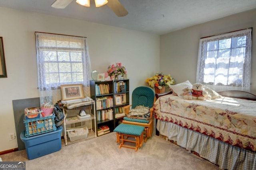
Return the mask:
<path id="1" fill-rule="evenodd" d="M 62 129 L 62 126 L 60 126 L 57 127 L 56 131 L 33 137 L 25 137 L 25 131 L 22 131 L 20 139 L 25 143 L 28 159 L 39 158 L 60 150 Z"/>

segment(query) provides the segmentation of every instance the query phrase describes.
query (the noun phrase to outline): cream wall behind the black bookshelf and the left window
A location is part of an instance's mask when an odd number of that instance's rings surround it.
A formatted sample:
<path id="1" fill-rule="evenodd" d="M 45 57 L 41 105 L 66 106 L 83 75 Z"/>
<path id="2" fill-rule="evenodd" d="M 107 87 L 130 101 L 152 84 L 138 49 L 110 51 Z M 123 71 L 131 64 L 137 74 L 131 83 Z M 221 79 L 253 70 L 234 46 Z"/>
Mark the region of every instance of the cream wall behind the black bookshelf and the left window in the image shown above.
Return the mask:
<path id="1" fill-rule="evenodd" d="M 0 152 L 18 147 L 8 139 L 16 132 L 12 100 L 38 97 L 35 31 L 87 37 L 92 70 L 122 63 L 130 91 L 159 71 L 159 35 L 8 8 L 0 8 L 0 21 L 8 76 L 0 78 Z"/>

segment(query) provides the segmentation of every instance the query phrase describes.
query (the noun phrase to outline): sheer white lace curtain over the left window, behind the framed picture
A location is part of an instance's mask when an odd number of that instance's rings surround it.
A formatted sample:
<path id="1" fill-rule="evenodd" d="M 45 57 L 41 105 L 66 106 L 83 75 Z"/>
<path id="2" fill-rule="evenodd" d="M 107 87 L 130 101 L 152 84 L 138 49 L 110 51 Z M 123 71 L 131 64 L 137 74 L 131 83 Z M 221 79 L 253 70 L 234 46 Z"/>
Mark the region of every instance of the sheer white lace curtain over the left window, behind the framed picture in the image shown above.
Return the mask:
<path id="1" fill-rule="evenodd" d="M 86 37 L 35 34 L 40 104 L 61 100 L 62 84 L 83 84 L 84 91 L 89 89 L 91 64 Z"/>

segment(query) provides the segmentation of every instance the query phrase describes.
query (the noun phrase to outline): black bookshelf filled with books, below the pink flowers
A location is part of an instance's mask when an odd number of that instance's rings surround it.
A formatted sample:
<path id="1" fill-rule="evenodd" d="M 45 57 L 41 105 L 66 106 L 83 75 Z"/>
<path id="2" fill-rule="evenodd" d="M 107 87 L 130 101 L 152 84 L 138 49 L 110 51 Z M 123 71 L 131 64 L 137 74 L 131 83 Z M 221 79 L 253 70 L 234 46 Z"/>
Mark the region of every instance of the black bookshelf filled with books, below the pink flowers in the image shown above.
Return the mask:
<path id="1" fill-rule="evenodd" d="M 96 129 L 107 125 L 112 132 L 118 125 L 118 121 L 124 117 L 120 115 L 116 118 L 115 114 L 122 112 L 122 107 L 129 104 L 129 79 L 90 80 L 90 94 L 95 101 Z M 119 103 L 116 103 L 117 99 Z M 100 135 L 102 133 L 97 131 L 97 136 Z"/>

